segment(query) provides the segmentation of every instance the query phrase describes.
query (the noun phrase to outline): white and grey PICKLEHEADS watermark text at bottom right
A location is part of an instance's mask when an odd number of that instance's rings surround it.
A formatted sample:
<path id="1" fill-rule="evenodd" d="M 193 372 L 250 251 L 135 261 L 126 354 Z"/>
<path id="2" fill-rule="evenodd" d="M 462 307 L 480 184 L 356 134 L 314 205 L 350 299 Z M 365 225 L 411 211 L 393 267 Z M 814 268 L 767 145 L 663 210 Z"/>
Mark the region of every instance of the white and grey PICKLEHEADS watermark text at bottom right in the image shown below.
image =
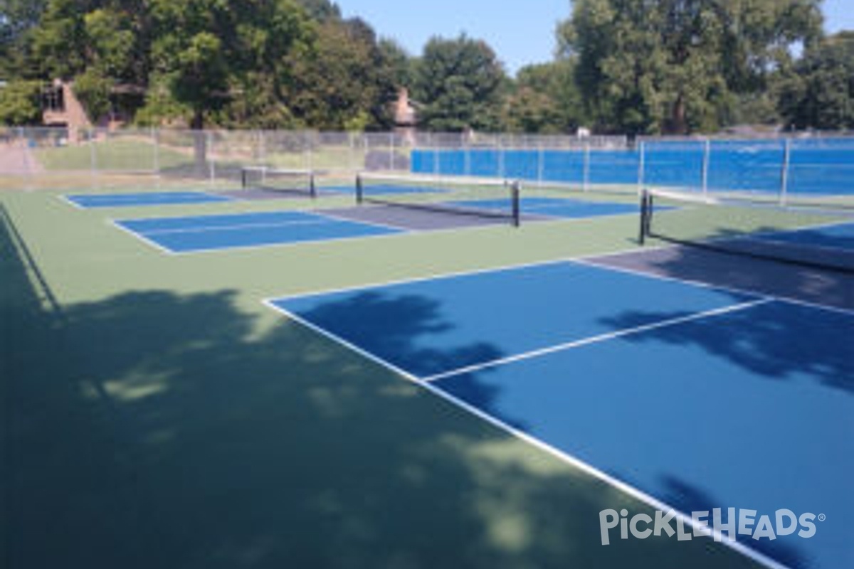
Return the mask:
<path id="1" fill-rule="evenodd" d="M 734 542 L 738 536 L 752 539 L 775 540 L 779 536 L 797 535 L 808 539 L 816 535 L 816 520 L 824 521 L 824 514 L 795 514 L 782 508 L 774 514 L 759 515 L 757 510 L 739 508 L 714 508 L 710 511 L 692 512 L 690 517 L 677 514 L 675 510 L 658 510 L 653 518 L 649 514 L 635 514 L 629 518 L 629 511 L 605 509 L 599 513 L 599 527 L 602 545 L 611 543 L 611 530 L 619 527 L 620 539 L 637 539 L 666 535 L 679 541 L 689 541 L 695 537 L 712 537 L 716 542 L 728 539 Z"/>

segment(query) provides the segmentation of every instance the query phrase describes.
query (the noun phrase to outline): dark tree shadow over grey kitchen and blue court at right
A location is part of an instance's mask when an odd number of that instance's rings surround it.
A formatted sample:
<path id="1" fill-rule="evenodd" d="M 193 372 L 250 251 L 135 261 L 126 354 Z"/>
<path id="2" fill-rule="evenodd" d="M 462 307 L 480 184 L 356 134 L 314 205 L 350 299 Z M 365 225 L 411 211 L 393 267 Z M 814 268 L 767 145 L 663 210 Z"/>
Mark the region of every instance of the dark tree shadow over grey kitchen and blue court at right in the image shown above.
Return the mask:
<path id="1" fill-rule="evenodd" d="M 664 340 L 672 345 L 695 345 L 752 373 L 786 381 L 798 374 L 816 378 L 823 386 L 854 393 L 854 274 L 822 271 L 791 264 L 746 259 L 727 253 L 674 247 L 658 252 L 606 260 L 619 268 L 689 282 L 705 282 L 795 303 L 773 303 L 746 311 L 714 316 L 677 327 L 663 327 L 629 341 Z M 741 301 L 751 300 L 746 297 Z M 798 301 L 829 310 L 798 305 Z M 837 311 L 836 309 L 842 309 Z M 632 328 L 640 322 L 681 316 L 649 311 L 623 312 L 608 324 Z M 820 316 L 820 317 L 819 317 Z M 715 326 L 726 318 L 727 327 Z M 686 333 L 686 328 L 691 334 Z"/>

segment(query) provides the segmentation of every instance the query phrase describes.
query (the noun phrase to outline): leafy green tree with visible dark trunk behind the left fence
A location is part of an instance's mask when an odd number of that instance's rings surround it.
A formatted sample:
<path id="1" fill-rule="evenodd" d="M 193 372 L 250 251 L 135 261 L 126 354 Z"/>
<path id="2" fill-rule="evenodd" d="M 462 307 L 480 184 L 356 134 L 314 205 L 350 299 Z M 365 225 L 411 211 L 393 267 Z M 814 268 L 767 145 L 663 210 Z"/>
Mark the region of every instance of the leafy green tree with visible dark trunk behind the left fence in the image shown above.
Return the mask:
<path id="1" fill-rule="evenodd" d="M 293 80 L 288 65 L 307 53 L 314 27 L 292 0 L 151 0 L 152 83 L 143 117 L 189 111 L 190 128 L 214 117 L 258 117 L 259 126 L 289 122 L 282 101 Z M 196 136 L 196 168 L 206 164 Z"/>

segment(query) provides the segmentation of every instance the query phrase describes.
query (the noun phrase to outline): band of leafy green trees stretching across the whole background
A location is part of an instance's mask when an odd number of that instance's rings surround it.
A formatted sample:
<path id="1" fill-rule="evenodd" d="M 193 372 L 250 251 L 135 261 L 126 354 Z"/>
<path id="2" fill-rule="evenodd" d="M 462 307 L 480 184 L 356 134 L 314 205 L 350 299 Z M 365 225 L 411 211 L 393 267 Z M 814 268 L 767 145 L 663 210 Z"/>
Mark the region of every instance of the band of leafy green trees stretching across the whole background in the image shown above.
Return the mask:
<path id="1" fill-rule="evenodd" d="M 509 78 L 482 40 L 413 56 L 330 0 L 0 0 L 0 121 L 38 122 L 39 82 L 61 78 L 139 125 L 388 129 L 401 87 L 430 131 L 854 124 L 854 32 L 825 38 L 822 0 L 571 6 L 553 61 Z"/>

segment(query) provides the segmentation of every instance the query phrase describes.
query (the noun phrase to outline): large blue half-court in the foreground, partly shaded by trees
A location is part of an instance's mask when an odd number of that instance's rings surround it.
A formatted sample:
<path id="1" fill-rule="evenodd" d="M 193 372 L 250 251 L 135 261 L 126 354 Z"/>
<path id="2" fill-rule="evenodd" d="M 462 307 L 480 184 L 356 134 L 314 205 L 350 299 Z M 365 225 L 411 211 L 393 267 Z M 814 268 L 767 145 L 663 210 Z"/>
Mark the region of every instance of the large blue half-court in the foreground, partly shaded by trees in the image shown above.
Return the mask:
<path id="1" fill-rule="evenodd" d="M 739 537 L 766 565 L 854 566 L 850 311 L 574 262 L 269 304 L 636 496 L 814 514 Z"/>

